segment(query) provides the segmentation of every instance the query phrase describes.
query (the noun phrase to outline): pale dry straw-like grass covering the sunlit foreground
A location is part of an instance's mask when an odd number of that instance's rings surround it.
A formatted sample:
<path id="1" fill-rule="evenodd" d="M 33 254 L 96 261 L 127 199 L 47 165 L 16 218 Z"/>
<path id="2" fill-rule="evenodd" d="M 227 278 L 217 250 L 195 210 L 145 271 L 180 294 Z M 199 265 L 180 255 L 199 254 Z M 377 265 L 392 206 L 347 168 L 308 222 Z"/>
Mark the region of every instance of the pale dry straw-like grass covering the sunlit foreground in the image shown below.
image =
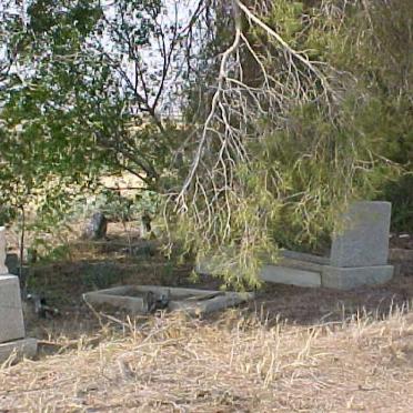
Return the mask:
<path id="1" fill-rule="evenodd" d="M 120 331 L 119 331 L 120 330 Z M 113 332 L 113 330 L 112 330 Z M 105 331 L 108 333 L 108 329 Z M 413 312 L 310 326 L 228 311 L 159 315 L 0 370 L 0 411 L 407 412 Z"/>

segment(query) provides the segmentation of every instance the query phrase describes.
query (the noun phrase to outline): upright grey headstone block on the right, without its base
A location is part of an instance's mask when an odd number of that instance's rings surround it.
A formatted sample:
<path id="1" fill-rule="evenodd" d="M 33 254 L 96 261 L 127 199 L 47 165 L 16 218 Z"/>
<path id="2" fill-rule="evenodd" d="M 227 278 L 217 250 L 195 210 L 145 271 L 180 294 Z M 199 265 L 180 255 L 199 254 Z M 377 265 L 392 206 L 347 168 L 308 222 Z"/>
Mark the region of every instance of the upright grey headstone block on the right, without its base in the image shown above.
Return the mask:
<path id="1" fill-rule="evenodd" d="M 386 265 L 390 218 L 390 202 L 363 201 L 351 204 L 333 238 L 331 265 Z"/>

